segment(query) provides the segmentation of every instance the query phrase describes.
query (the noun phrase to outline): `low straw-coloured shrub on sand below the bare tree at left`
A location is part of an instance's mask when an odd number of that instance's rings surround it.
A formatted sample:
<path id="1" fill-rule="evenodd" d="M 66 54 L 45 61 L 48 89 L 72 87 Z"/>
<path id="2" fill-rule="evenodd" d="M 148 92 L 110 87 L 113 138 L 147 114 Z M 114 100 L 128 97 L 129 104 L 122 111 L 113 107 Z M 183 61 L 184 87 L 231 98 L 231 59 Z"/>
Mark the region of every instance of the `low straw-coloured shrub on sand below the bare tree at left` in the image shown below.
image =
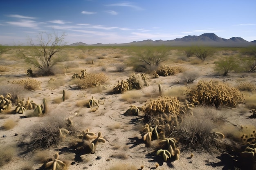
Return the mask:
<path id="1" fill-rule="evenodd" d="M 41 82 L 37 81 L 36 79 L 21 79 L 21 80 L 15 80 L 12 82 L 13 84 L 20 84 L 24 86 L 25 89 L 30 91 L 35 91 L 41 88 Z"/>

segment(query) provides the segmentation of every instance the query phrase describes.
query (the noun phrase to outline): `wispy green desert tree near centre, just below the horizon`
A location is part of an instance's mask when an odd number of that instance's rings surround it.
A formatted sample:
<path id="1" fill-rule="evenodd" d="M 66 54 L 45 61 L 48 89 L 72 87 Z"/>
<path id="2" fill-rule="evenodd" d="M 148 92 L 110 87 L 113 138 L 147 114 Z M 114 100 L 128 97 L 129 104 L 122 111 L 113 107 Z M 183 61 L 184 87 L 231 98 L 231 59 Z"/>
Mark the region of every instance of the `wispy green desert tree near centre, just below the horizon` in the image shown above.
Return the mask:
<path id="1" fill-rule="evenodd" d="M 135 70 L 142 68 L 149 73 L 156 70 L 169 55 L 165 46 L 137 47 L 133 52 L 135 55 L 130 58 L 130 65 L 134 66 Z"/>

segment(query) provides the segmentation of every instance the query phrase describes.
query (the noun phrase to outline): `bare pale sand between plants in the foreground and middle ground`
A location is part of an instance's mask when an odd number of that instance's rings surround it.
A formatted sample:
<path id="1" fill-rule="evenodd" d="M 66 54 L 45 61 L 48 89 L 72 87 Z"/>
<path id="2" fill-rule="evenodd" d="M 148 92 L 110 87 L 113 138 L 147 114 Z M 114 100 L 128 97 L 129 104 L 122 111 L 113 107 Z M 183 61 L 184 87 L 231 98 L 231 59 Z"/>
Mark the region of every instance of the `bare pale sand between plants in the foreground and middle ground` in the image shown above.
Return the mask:
<path id="1" fill-rule="evenodd" d="M 102 60 L 102 62 L 106 61 L 104 60 Z M 236 73 L 231 73 L 229 77 L 216 75 L 213 73 L 214 64 L 211 61 L 209 64 L 191 65 L 184 63 L 179 65 L 201 73 L 201 76 L 193 84 L 196 84 L 200 79 L 218 79 L 234 85 L 236 83 L 236 79 L 242 77 L 242 75 Z M 83 66 L 80 66 L 80 68 L 83 69 Z M 87 73 L 101 72 L 101 68 L 99 66 L 85 65 L 85 68 L 87 69 Z M 168 91 L 168 89 L 173 86 L 184 86 L 183 84 L 177 84 L 177 82 L 181 81 L 182 73 L 170 77 L 159 77 L 158 79 L 154 79 L 153 75 L 149 75 L 150 79 L 148 83 L 150 86 L 137 91 L 141 97 L 129 99 L 128 101 L 124 101 L 121 94 L 110 95 L 108 92 L 117 84 L 118 80 L 126 79 L 132 75 L 132 69 L 127 68 L 124 72 L 119 73 L 115 71 L 115 66 L 109 64 L 107 71 L 104 73 L 109 76 L 109 81 L 108 84 L 105 84 L 106 89 L 102 92 L 93 92 L 91 88 L 86 90 L 72 90 L 74 84 L 70 84 L 69 82 L 72 80 L 73 73 L 58 75 L 58 77 L 52 76 L 55 79 L 59 79 L 61 77 L 61 79 L 65 80 L 65 85 L 59 86 L 58 88 L 49 88 L 49 86 L 47 86 L 47 82 L 50 77 L 35 77 L 34 79 L 37 79 L 42 83 L 41 88 L 36 91 L 24 90 L 25 94 L 23 97 L 25 99 L 30 97 L 31 100 L 34 100 L 34 102 L 38 104 L 41 104 L 42 99 L 46 98 L 49 102 L 50 113 L 49 115 L 45 115 L 45 117 L 22 118 L 26 114 L 24 113 L 6 115 L 0 119 L 0 125 L 2 125 L 6 119 L 18 121 L 17 126 L 10 130 L 4 130 L 1 128 L 1 147 L 8 146 L 9 144 L 18 144 L 23 135 L 26 135 L 28 130 L 30 130 L 32 125 L 41 124 L 44 119 L 47 119 L 47 117 L 56 116 L 66 119 L 69 116 L 73 116 L 73 123 L 81 124 L 81 127 L 79 127 L 81 130 L 89 128 L 92 132 L 101 132 L 104 139 L 106 139 L 106 143 L 100 143 L 94 154 L 81 155 L 81 162 L 74 161 L 74 153 L 63 151 L 63 148 L 67 147 L 65 146 L 65 143 L 60 146 L 49 148 L 49 150 L 47 150 L 48 158 L 53 159 L 54 153 L 58 152 L 61 160 L 69 159 L 70 162 L 73 162 L 72 165 L 68 167 L 69 170 L 110 170 L 111 168 L 121 170 L 139 169 L 141 166 L 144 166 L 143 169 L 145 170 L 151 170 L 156 169 L 156 163 L 159 163 L 159 167 L 157 168 L 159 170 L 226 170 L 234 168 L 234 163 L 236 162 L 234 156 L 229 155 L 229 153 L 226 153 L 223 150 L 194 151 L 182 150 L 182 148 L 180 148 L 180 159 L 173 162 L 167 161 L 166 163 L 162 161 L 160 157 L 156 157 L 154 155 L 155 150 L 153 150 L 153 148 L 146 148 L 144 142 L 141 140 L 141 132 L 138 128 L 141 126 L 139 121 L 141 119 L 141 115 L 124 115 L 125 111 L 131 104 L 143 106 L 144 101 L 150 99 L 150 97 L 148 97 L 150 94 L 152 96 L 157 96 L 157 85 L 159 83 L 162 84 L 164 91 Z M 249 80 L 249 82 L 255 82 L 255 77 L 249 76 L 250 75 L 248 75 L 246 79 Z M 8 84 L 12 80 L 22 79 L 26 76 L 24 75 L 24 69 L 22 70 L 22 68 L 20 68 L 20 70 L 17 69 L 15 71 L 1 73 L 1 77 L 7 77 L 8 79 L 2 80 L 1 84 Z M 70 95 L 68 99 L 66 99 L 65 102 L 60 102 L 58 104 L 54 103 L 54 99 L 62 97 L 63 90 L 66 90 Z M 90 99 L 92 96 L 94 96 L 95 99 L 102 99 L 103 101 L 103 104 L 99 105 L 96 112 L 91 112 L 90 108 L 76 106 L 77 101 Z M 238 107 L 230 110 L 230 116 L 227 120 L 232 124 L 235 124 L 236 126 L 255 124 L 255 119 L 247 119 L 247 116 L 251 115 L 251 113 L 249 113 L 249 109 L 246 108 L 245 105 L 239 104 Z M 243 114 L 241 114 L 241 110 L 244 110 Z M 232 114 L 230 112 L 232 112 Z M 79 113 L 79 116 L 76 116 L 75 113 Z M 15 136 L 16 133 L 18 135 Z M 2 137 L 3 135 L 6 135 L 6 137 Z M 177 144 L 177 146 L 181 145 Z M 20 156 L 19 151 L 20 148 L 18 148 L 16 156 L 8 164 L 0 167 L 0 169 L 18 170 L 24 165 L 29 165 L 36 170 L 43 165 L 43 163 L 35 163 L 32 161 L 34 159 L 32 153 Z M 190 159 L 192 152 L 194 156 Z M 97 159 L 99 157 L 100 159 Z"/>

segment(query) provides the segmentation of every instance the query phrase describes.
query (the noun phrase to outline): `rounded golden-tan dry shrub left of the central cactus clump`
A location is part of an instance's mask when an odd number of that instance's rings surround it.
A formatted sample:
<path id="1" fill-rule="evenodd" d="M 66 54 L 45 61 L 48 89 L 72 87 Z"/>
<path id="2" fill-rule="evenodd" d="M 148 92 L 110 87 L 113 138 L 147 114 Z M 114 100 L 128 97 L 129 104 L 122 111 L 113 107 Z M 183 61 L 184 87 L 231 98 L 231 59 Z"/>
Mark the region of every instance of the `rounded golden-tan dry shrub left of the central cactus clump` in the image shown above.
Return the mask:
<path id="1" fill-rule="evenodd" d="M 90 87 L 99 86 L 108 81 L 108 76 L 104 73 L 90 73 L 86 74 L 83 79 L 77 79 L 76 87 L 86 89 Z"/>

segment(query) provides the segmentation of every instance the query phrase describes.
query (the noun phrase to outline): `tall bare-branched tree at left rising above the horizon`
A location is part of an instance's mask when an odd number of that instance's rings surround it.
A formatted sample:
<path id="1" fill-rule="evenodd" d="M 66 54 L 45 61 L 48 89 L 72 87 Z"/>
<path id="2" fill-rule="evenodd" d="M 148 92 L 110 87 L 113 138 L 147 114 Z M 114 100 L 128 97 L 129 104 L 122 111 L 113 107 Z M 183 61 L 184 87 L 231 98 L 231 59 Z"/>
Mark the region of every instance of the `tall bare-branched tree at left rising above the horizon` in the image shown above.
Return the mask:
<path id="1" fill-rule="evenodd" d="M 67 60 L 66 55 L 60 55 L 65 48 L 65 33 L 58 35 L 54 33 L 40 33 L 37 42 L 30 39 L 32 48 L 28 51 L 18 49 L 19 55 L 25 59 L 25 62 L 33 65 L 39 70 L 39 74 L 43 76 L 54 75 L 53 67 L 59 62 Z"/>

